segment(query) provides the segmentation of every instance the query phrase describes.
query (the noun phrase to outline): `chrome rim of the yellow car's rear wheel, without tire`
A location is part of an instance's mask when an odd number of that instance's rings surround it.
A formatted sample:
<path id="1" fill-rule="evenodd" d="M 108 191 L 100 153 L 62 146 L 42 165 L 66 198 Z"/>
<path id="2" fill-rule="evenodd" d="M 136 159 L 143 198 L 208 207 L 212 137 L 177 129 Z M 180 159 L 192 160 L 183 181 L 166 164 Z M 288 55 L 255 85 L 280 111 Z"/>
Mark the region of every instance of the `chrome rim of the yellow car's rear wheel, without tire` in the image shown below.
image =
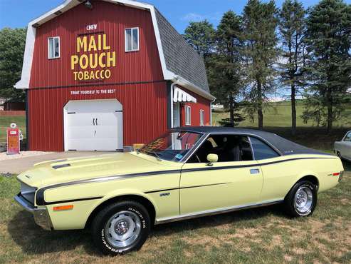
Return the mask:
<path id="1" fill-rule="evenodd" d="M 313 192 L 309 186 L 300 186 L 294 197 L 295 210 L 300 215 L 308 215 L 313 207 Z"/>

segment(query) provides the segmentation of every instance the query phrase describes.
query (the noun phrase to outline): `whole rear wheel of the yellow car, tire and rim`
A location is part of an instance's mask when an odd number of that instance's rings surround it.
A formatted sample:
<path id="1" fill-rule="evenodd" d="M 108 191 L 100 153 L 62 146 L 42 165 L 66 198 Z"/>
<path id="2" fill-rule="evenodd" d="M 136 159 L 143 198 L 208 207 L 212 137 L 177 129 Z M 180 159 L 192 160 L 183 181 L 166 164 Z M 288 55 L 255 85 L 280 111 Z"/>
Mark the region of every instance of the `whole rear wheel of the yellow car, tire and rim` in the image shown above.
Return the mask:
<path id="1" fill-rule="evenodd" d="M 293 217 L 308 216 L 317 205 L 317 188 L 310 181 L 299 181 L 285 197 L 285 208 Z"/>

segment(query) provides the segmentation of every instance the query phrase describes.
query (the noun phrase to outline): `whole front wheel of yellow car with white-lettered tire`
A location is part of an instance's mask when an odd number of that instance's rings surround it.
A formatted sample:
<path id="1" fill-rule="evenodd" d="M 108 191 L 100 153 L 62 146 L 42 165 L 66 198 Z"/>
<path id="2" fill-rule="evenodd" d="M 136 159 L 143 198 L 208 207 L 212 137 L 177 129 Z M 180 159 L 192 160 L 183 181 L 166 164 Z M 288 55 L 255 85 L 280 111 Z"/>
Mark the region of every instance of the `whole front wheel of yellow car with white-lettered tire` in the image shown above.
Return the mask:
<path id="1" fill-rule="evenodd" d="M 142 247 L 150 233 L 150 226 L 149 213 L 140 203 L 112 203 L 95 216 L 93 240 L 104 254 L 123 254 Z"/>

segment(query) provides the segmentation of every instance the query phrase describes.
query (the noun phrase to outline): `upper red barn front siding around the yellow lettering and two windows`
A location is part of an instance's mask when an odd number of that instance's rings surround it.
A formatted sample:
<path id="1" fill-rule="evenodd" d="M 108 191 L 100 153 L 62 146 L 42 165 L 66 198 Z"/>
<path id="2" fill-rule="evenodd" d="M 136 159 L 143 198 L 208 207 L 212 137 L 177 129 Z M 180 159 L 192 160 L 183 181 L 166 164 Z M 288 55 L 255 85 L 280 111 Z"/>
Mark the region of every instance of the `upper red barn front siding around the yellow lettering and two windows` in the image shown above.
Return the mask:
<path id="1" fill-rule="evenodd" d="M 107 35 L 110 51 L 116 52 L 116 66 L 110 68 L 111 77 L 103 83 L 163 79 L 150 11 L 105 1 L 94 1 L 93 6 L 93 10 L 83 4 L 75 6 L 36 29 L 29 88 L 87 84 L 74 80 L 70 56 L 77 54 L 75 39 L 79 34 L 102 31 Z M 87 31 L 90 24 L 97 24 L 98 29 Z M 131 27 L 140 29 L 140 51 L 125 52 L 125 29 Z M 52 36 L 60 36 L 59 59 L 48 59 L 48 37 Z"/>

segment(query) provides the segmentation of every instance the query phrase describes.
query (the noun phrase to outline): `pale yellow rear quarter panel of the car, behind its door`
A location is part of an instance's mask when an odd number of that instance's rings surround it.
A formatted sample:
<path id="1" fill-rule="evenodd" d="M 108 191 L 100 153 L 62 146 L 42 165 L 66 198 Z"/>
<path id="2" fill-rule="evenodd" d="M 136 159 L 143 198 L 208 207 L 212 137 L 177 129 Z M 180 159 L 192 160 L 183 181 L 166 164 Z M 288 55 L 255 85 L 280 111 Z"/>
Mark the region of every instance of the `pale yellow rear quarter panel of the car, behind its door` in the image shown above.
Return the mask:
<path id="1" fill-rule="evenodd" d="M 263 173 L 261 200 L 285 198 L 290 188 L 305 176 L 318 179 L 319 191 L 328 190 L 338 183 L 338 176 L 332 176 L 332 173 L 343 171 L 340 158 L 334 156 L 289 155 L 261 160 L 259 163 Z"/>

